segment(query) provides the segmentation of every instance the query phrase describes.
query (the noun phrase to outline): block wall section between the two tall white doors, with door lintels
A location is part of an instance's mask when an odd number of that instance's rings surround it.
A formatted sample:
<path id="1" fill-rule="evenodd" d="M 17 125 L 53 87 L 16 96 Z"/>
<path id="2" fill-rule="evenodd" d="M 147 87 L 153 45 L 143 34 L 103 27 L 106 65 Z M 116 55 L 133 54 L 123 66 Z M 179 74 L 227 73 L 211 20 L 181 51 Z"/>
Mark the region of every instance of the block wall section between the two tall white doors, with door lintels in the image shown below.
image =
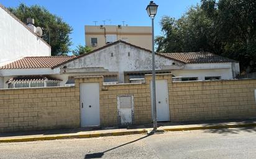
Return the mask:
<path id="1" fill-rule="evenodd" d="M 171 84 L 170 74 L 157 75 L 157 80 L 168 80 Z M 119 124 L 117 111 L 117 96 L 132 95 L 134 97 L 134 124 L 152 122 L 150 80 L 151 75 L 145 75 L 144 84 L 115 84 L 103 85 L 103 77 L 76 77 L 76 91 L 80 91 L 81 83 L 99 83 L 99 111 L 101 126 L 115 126 Z"/>

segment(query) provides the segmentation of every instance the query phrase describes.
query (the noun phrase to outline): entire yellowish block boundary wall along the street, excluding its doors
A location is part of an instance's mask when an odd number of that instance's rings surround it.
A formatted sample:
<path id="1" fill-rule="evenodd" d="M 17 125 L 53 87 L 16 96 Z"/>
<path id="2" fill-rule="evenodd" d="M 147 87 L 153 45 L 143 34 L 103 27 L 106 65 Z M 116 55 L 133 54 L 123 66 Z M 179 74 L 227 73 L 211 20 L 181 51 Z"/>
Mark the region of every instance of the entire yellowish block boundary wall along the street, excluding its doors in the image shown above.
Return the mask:
<path id="1" fill-rule="evenodd" d="M 133 95 L 134 123 L 152 122 L 150 80 L 103 85 L 102 76 L 76 77 L 75 87 L 0 90 L 0 132 L 80 127 L 80 84 L 99 83 L 101 126 L 119 124 L 117 96 Z M 171 121 L 256 117 L 256 80 L 172 82 L 167 80 Z"/>

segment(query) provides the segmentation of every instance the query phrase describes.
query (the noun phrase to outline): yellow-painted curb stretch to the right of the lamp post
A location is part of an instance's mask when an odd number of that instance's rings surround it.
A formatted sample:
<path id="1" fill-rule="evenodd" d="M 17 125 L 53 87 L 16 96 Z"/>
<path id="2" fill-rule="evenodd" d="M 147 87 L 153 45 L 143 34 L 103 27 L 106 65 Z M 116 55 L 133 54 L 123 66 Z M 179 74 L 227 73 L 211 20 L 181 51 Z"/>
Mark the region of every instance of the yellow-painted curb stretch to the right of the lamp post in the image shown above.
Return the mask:
<path id="1" fill-rule="evenodd" d="M 215 126 L 191 126 L 191 127 L 176 127 L 163 129 L 164 131 L 194 131 L 204 129 L 227 129 L 236 127 L 256 127 L 256 123 L 249 124 L 226 124 L 226 125 L 215 125 Z"/>

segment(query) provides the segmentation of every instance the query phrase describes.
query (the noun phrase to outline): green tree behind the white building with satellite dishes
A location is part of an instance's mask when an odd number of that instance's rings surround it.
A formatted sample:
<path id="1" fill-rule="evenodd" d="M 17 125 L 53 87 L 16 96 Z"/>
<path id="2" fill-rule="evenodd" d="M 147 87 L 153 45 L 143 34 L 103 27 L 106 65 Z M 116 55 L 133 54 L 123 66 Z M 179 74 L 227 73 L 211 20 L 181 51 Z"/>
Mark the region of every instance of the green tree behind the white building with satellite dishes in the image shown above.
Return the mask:
<path id="1" fill-rule="evenodd" d="M 35 20 L 35 26 L 42 27 L 45 34 L 42 38 L 52 46 L 52 56 L 66 55 L 70 51 L 72 28 L 57 15 L 51 14 L 42 6 L 26 6 L 21 3 L 18 7 L 10 7 L 9 11 L 22 22 L 27 18 Z"/>

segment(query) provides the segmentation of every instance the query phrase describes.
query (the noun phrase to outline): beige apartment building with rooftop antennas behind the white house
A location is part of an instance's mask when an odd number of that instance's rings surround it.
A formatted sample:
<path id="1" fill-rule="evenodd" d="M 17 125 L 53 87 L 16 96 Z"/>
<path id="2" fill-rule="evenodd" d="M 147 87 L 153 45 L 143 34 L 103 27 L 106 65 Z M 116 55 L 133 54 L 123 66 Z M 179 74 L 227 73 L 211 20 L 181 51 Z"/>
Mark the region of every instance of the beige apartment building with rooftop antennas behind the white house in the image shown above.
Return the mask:
<path id="1" fill-rule="evenodd" d="M 122 25 L 85 25 L 85 43 L 93 49 L 118 40 L 151 50 L 152 29 L 151 27 Z"/>

